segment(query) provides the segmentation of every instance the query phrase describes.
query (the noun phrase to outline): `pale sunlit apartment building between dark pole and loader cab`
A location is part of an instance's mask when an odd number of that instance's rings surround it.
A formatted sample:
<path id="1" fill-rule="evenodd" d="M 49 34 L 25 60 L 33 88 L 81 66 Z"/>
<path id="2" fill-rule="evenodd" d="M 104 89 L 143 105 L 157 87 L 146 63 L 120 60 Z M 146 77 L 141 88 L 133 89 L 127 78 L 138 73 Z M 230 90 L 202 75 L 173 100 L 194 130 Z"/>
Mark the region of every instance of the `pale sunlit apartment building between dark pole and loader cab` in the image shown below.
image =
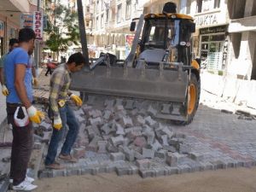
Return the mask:
<path id="1" fill-rule="evenodd" d="M 119 59 L 129 54 L 133 34 L 130 24 L 141 14 L 161 13 L 167 0 L 86 0 L 84 18 L 89 47 L 110 52 Z M 178 3 L 178 1 L 174 1 Z"/>

